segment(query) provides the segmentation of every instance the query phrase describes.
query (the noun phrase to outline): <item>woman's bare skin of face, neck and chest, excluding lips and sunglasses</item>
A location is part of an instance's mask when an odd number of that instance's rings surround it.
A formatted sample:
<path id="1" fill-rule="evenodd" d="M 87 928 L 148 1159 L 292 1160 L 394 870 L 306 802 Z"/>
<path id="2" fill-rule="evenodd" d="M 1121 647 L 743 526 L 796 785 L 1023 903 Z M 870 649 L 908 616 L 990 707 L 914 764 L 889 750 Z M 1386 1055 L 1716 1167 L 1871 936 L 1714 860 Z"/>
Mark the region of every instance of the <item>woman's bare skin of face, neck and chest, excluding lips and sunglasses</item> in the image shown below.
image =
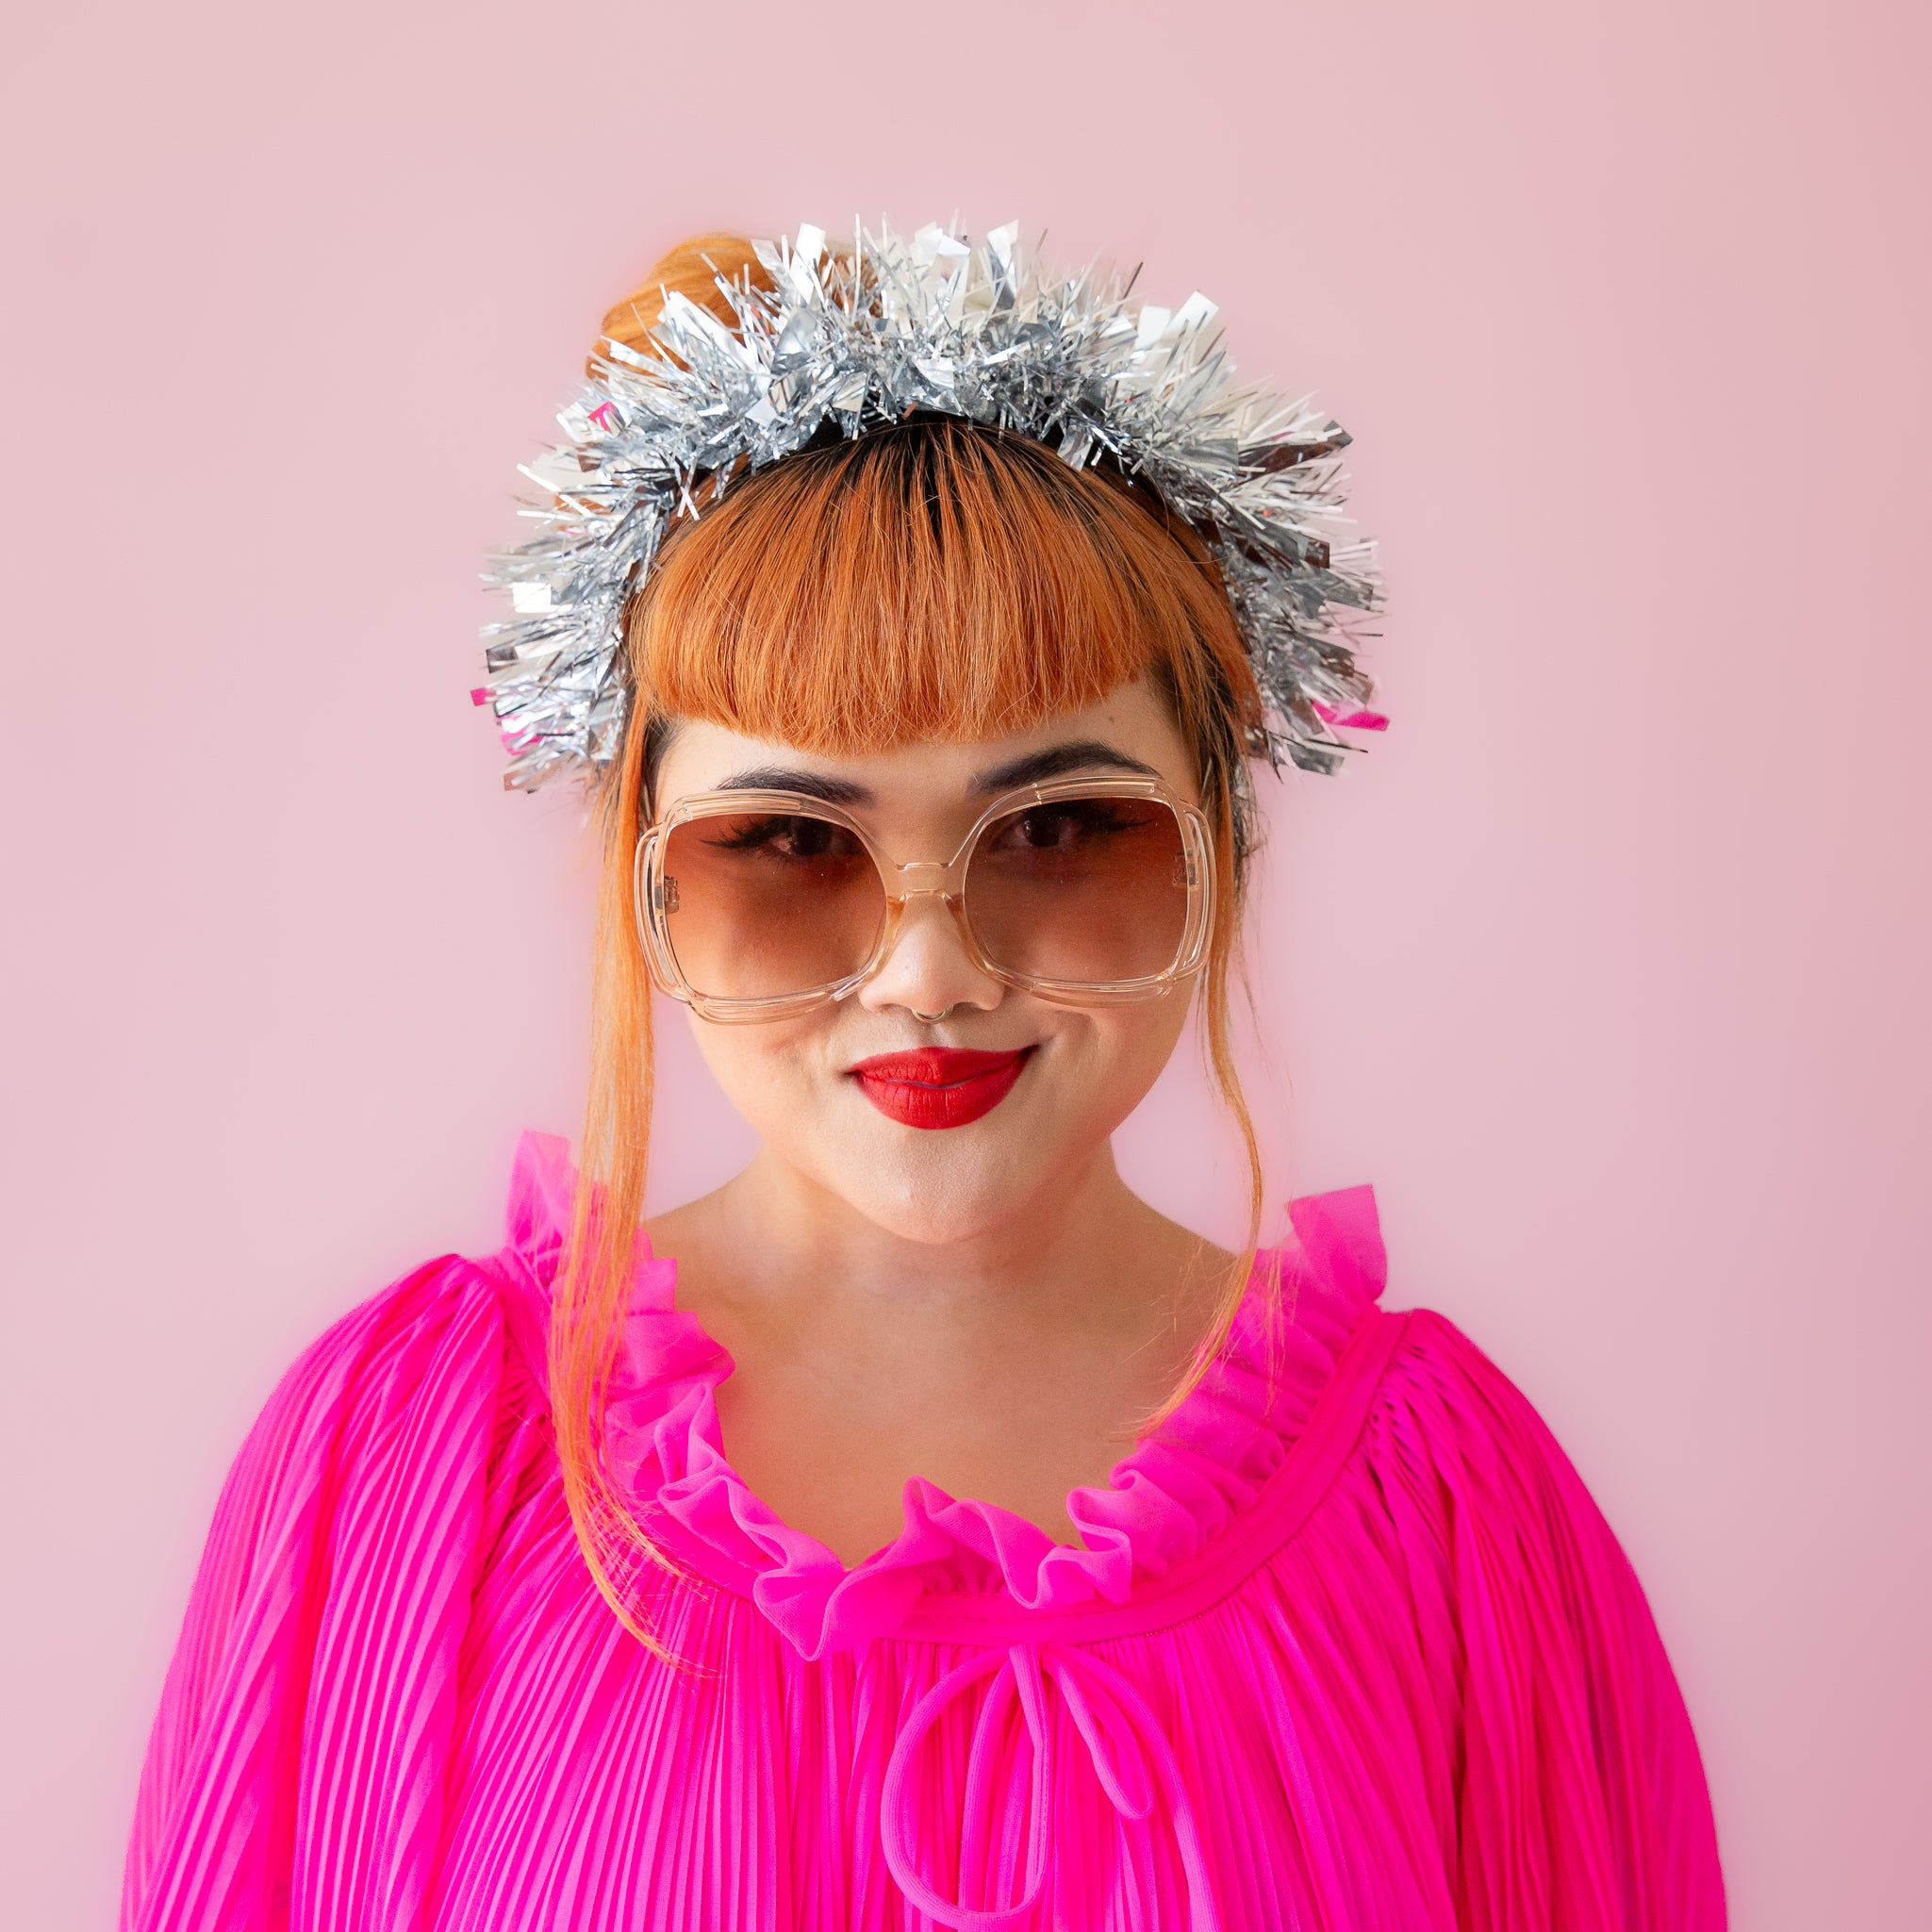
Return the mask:
<path id="1" fill-rule="evenodd" d="M 860 786 L 848 810 L 895 858 L 941 858 L 989 773 L 1066 746 L 1107 748 L 1082 773 L 1144 767 L 1196 796 L 1165 701 L 1132 684 L 1037 730 L 852 759 L 686 721 L 657 798 L 810 773 Z M 943 1009 L 937 1026 L 914 1018 Z M 1092 1009 L 1016 993 L 974 966 L 937 900 L 912 900 L 850 999 L 755 1026 L 692 1016 L 761 1148 L 649 1236 L 678 1258 L 678 1306 L 736 1362 L 717 1395 L 724 1447 L 786 1522 L 854 1565 L 898 1536 L 902 1488 L 923 1476 L 1078 1542 L 1068 1490 L 1107 1482 L 1233 1265 L 1113 1163 L 1109 1136 L 1186 1014 L 1186 989 Z M 920 1045 L 1036 1051 L 989 1115 L 931 1132 L 881 1115 L 848 1074 Z"/>

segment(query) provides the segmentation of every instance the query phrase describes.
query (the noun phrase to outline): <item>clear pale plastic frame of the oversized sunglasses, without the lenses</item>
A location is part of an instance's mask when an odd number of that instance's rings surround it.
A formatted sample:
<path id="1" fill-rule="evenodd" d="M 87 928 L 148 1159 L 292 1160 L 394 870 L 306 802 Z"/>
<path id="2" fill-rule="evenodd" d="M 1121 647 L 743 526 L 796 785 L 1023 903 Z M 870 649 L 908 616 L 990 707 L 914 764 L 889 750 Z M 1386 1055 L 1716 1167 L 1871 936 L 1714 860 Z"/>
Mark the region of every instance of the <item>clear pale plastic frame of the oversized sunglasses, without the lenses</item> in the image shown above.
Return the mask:
<path id="1" fill-rule="evenodd" d="M 972 918 L 966 910 L 966 875 L 985 829 L 1003 817 L 1010 817 L 1014 811 L 1080 798 L 1153 800 L 1167 806 L 1180 825 L 1188 904 L 1175 958 L 1161 972 L 1146 974 L 1138 980 L 1043 980 L 1034 974 L 1014 972 L 987 958 L 974 935 Z M 871 956 L 856 972 L 846 974 L 842 980 L 831 980 L 825 985 L 808 987 L 800 993 L 779 993 L 769 999 L 721 999 L 701 993 L 684 976 L 676 951 L 670 945 L 670 923 L 665 908 L 665 848 L 670 835 L 692 819 L 736 817 L 746 811 L 782 811 L 840 825 L 871 856 L 873 866 L 879 869 L 879 885 L 885 891 L 885 918 L 879 922 L 879 939 L 873 945 Z M 638 937 L 643 943 L 651 976 L 672 999 L 684 1001 L 684 1005 L 705 1020 L 726 1024 L 788 1020 L 800 1012 L 810 1012 L 813 1007 L 848 999 L 885 966 L 898 941 L 904 910 L 914 898 L 945 900 L 966 956 L 989 980 L 1063 1007 L 1117 1007 L 1142 999 L 1159 999 L 1200 972 L 1202 960 L 1208 954 L 1208 935 L 1213 925 L 1213 842 L 1208 833 L 1208 819 L 1200 808 L 1192 806 L 1159 779 L 1088 777 L 1024 784 L 1016 790 L 1001 792 L 980 813 L 952 858 L 904 862 L 883 852 L 871 833 L 850 811 L 827 804 L 823 798 L 811 798 L 804 792 L 692 792 L 668 806 L 638 840 L 632 887 L 638 912 Z"/>

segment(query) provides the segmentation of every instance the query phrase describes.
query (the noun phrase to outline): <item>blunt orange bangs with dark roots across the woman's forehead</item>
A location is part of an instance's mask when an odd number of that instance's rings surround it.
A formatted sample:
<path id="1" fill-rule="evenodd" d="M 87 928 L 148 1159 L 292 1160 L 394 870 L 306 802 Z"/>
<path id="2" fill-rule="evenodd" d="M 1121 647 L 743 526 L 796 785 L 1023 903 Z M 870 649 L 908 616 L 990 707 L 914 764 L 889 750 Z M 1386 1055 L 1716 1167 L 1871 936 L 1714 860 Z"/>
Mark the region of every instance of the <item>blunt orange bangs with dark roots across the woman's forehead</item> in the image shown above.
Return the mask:
<path id="1" fill-rule="evenodd" d="M 1151 495 L 954 417 L 736 483 L 667 541 L 630 655 L 645 717 L 835 757 L 1246 670 L 1206 547 Z"/>

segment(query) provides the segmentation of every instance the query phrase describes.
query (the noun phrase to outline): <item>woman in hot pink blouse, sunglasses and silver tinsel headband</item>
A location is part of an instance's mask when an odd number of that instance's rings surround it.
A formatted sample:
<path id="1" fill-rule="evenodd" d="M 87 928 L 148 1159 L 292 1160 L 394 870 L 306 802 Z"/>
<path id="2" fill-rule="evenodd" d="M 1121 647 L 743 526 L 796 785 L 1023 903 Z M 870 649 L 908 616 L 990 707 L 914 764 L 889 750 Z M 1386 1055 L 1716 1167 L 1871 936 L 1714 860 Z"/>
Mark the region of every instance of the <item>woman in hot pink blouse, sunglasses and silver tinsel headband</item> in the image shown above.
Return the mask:
<path id="1" fill-rule="evenodd" d="M 272 1399 L 126 1924 L 1721 1924 L 1636 1580 L 1368 1192 L 1236 1258 L 1109 1155 L 1198 987 L 1254 1165 L 1246 759 L 1381 723 L 1345 439 L 1010 232 L 645 290 L 479 694 L 605 784 L 587 1180 Z M 653 976 L 761 1151 L 639 1233 Z"/>

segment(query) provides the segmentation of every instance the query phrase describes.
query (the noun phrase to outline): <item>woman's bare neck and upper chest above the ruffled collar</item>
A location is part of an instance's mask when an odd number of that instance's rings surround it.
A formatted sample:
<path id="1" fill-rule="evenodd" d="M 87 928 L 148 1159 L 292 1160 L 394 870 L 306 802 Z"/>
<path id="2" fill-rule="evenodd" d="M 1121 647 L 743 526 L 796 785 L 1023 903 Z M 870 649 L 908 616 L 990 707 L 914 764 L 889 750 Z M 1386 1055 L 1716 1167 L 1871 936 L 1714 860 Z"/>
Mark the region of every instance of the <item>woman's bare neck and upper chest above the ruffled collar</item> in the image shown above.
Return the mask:
<path id="1" fill-rule="evenodd" d="M 908 1476 L 1078 1540 L 1068 1490 L 1105 1482 L 1173 1393 L 1233 1265 L 1128 1192 L 1105 1144 L 951 1240 L 769 1151 L 651 1238 L 732 1356 L 734 1466 L 848 1563 L 898 1534 Z"/>

